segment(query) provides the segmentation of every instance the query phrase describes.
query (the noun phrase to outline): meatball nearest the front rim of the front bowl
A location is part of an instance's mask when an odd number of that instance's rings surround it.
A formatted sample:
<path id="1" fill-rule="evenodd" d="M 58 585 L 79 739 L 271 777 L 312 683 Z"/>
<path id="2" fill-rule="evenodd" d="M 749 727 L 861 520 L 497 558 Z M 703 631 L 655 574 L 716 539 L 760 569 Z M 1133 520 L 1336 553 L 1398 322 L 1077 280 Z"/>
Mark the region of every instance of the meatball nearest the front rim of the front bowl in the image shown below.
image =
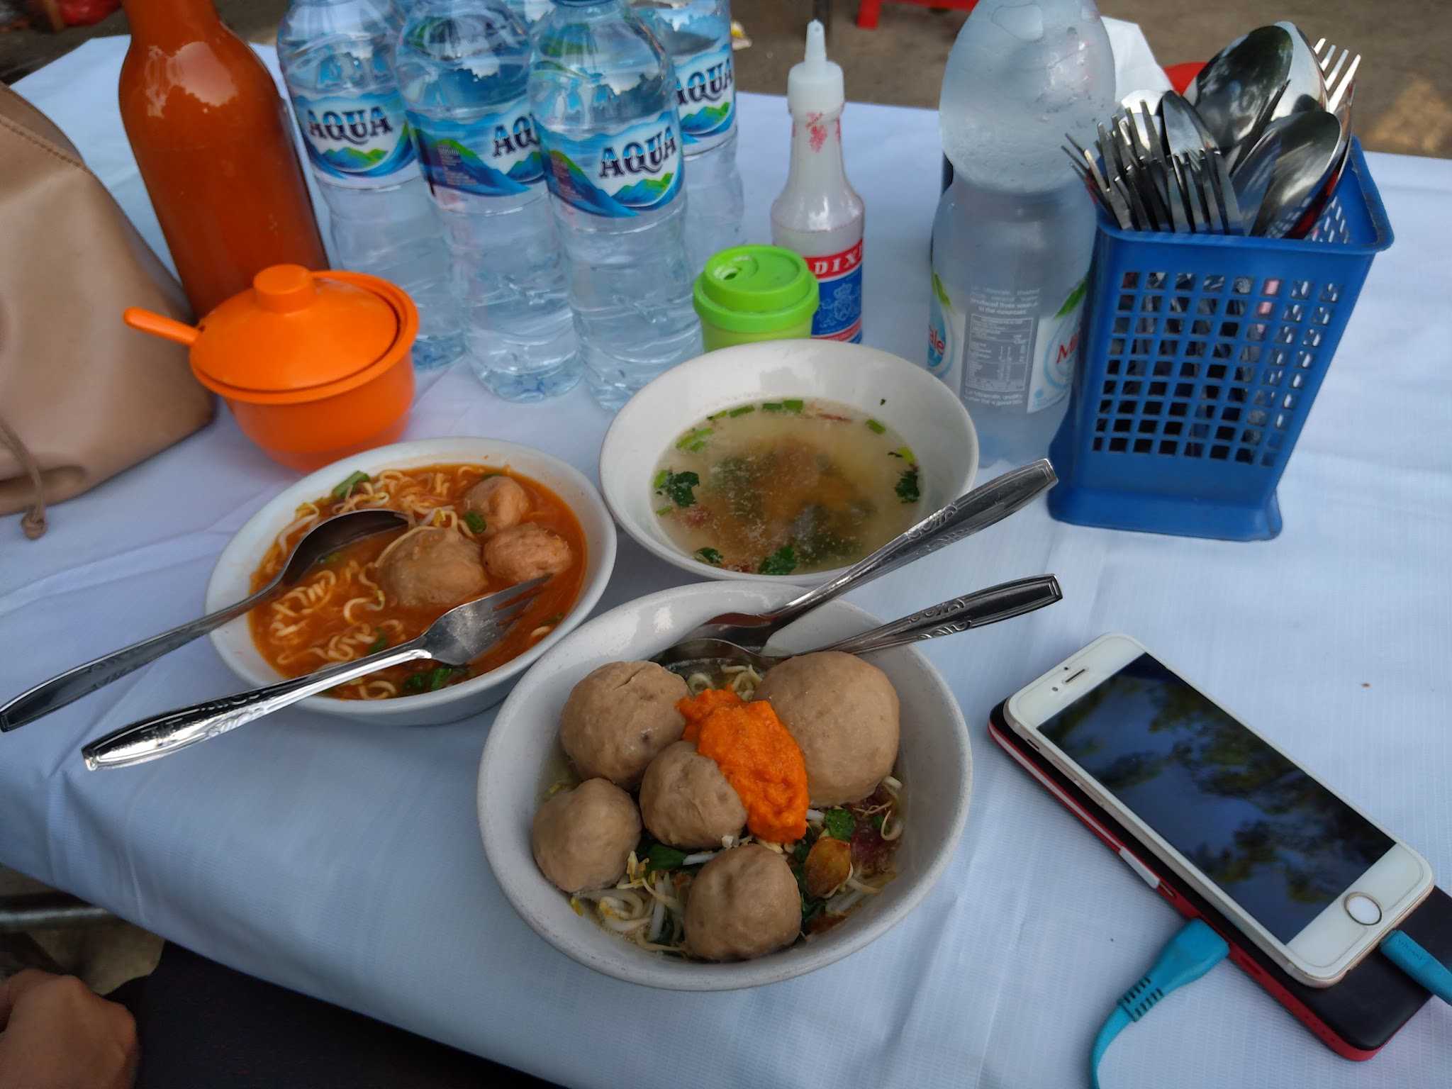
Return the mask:
<path id="1" fill-rule="evenodd" d="M 703 960 L 751 960 L 802 931 L 802 893 L 784 855 L 733 847 L 701 867 L 685 899 L 685 950 Z"/>

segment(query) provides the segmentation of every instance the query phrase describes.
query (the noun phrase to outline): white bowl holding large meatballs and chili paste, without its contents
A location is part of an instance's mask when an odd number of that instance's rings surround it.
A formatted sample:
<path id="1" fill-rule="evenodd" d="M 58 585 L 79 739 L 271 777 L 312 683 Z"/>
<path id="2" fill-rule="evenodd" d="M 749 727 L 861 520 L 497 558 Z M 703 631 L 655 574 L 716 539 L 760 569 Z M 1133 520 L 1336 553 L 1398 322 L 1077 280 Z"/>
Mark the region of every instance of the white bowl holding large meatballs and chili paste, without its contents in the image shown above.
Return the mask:
<path id="1" fill-rule="evenodd" d="M 963 833 L 973 784 L 968 730 L 947 682 L 912 648 L 871 655 L 897 691 L 902 733 L 893 774 L 902 781 L 903 832 L 896 877 L 825 934 L 756 960 L 704 963 L 650 953 L 576 915 L 530 849 L 530 826 L 565 771 L 559 720 L 571 688 L 605 662 L 645 659 L 725 611 L 758 613 L 793 597 L 780 582 L 703 582 L 665 590 L 603 613 L 562 639 L 499 709 L 479 761 L 484 851 L 505 897 L 536 934 L 585 967 L 671 990 L 735 990 L 802 976 L 871 944 L 902 922 L 942 874 Z M 878 623 L 832 601 L 784 629 L 772 649 L 807 650 Z"/>

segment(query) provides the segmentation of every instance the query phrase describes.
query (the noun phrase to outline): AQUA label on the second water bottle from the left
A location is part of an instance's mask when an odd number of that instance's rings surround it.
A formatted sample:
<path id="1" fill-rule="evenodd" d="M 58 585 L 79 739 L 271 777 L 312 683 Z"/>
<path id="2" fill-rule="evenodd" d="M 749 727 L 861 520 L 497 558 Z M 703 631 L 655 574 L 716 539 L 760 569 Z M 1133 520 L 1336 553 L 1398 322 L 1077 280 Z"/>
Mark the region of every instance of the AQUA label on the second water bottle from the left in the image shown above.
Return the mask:
<path id="1" fill-rule="evenodd" d="M 544 177 L 544 157 L 526 99 L 469 122 L 408 115 L 431 186 L 514 196 Z"/>

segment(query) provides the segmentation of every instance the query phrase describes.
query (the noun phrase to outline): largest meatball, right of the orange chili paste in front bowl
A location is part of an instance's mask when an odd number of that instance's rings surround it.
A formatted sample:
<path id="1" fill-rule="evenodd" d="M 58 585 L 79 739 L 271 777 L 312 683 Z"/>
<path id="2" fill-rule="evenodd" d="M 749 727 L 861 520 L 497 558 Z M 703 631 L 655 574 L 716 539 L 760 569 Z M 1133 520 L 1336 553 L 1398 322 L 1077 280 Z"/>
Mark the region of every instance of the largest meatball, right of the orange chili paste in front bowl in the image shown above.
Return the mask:
<path id="1" fill-rule="evenodd" d="M 788 658 L 767 671 L 756 700 L 771 700 L 797 739 L 813 806 L 857 802 L 897 759 L 897 693 L 887 674 L 838 650 Z"/>

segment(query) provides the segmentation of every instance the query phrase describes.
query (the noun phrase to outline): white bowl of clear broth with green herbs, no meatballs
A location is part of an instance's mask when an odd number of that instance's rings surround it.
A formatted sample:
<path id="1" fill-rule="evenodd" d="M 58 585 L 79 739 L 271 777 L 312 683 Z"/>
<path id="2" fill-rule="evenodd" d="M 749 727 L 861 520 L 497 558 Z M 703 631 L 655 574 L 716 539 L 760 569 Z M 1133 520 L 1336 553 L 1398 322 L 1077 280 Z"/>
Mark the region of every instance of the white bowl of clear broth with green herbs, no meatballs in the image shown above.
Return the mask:
<path id="1" fill-rule="evenodd" d="M 948 386 L 860 344 L 780 340 L 672 367 L 600 450 L 611 514 L 700 578 L 813 585 L 973 486 L 979 440 Z"/>

